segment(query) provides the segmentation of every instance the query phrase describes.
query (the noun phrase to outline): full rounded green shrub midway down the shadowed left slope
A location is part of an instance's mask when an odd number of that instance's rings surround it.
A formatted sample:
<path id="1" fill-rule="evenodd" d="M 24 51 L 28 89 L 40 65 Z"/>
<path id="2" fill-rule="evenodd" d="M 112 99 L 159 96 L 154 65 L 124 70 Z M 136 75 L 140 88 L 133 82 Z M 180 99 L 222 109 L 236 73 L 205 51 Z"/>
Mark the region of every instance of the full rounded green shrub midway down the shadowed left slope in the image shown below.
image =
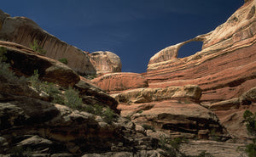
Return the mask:
<path id="1" fill-rule="evenodd" d="M 69 87 L 64 93 L 64 104 L 72 109 L 82 109 L 82 98 L 79 98 L 79 92 Z"/>

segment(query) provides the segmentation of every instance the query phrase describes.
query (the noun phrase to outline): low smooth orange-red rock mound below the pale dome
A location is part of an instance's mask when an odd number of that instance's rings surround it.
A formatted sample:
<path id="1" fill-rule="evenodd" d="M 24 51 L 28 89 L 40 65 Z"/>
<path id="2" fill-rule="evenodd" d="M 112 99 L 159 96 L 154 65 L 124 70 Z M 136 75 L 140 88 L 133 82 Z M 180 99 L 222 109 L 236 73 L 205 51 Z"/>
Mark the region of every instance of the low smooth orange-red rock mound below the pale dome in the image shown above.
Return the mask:
<path id="1" fill-rule="evenodd" d="M 111 73 L 92 80 L 98 87 L 112 93 L 119 93 L 128 89 L 148 87 L 148 81 L 137 73 Z"/>

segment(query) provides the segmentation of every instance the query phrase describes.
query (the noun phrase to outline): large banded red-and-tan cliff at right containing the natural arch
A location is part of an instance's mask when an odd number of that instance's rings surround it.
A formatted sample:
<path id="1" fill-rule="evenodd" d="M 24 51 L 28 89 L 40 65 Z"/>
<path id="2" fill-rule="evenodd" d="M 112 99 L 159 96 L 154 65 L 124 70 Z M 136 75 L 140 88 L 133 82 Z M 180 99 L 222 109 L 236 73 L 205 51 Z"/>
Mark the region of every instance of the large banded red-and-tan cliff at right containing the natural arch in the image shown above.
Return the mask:
<path id="1" fill-rule="evenodd" d="M 195 84 L 201 101 L 238 98 L 256 84 L 255 3 L 245 3 L 223 25 L 156 53 L 143 76 L 149 87 Z M 200 52 L 178 59 L 178 49 L 187 42 L 201 41 Z"/>

